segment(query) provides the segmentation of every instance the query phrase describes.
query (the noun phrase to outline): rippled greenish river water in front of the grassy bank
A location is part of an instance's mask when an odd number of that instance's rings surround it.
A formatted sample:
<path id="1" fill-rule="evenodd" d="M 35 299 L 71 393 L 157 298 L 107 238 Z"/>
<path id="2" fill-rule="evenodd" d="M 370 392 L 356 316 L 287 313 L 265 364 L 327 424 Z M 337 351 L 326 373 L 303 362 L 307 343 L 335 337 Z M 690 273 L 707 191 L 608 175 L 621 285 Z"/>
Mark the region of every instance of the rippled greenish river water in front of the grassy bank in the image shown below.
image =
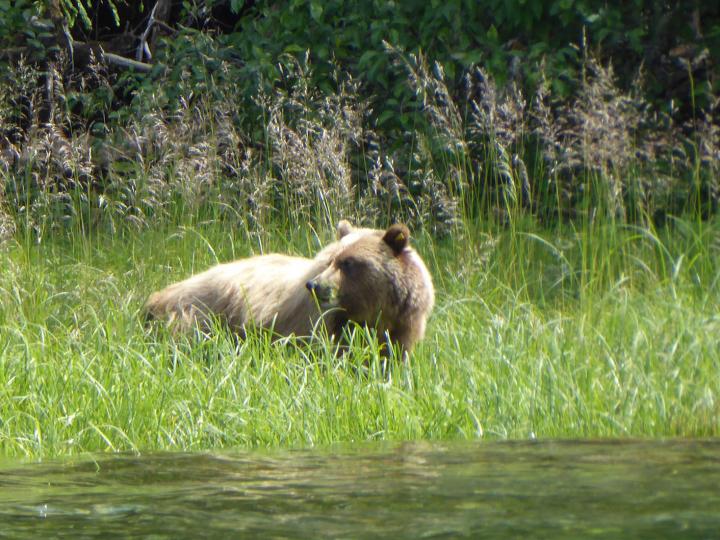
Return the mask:
<path id="1" fill-rule="evenodd" d="M 720 538 L 720 440 L 6 462 L 0 537 Z"/>

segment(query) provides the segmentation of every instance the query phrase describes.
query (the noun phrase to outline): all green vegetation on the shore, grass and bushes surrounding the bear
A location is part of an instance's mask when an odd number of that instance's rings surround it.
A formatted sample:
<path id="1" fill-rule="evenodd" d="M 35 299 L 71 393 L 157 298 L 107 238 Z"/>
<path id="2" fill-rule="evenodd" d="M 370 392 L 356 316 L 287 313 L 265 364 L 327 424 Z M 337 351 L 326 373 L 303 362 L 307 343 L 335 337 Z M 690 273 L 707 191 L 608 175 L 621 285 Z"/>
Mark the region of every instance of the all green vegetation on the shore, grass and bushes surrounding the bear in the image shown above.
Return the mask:
<path id="1" fill-rule="evenodd" d="M 0 453 L 720 434 L 717 9 L 675 58 L 680 2 L 414 4 L 184 3 L 134 72 L 80 45 L 135 8 L 0 1 Z M 362 329 L 337 356 L 143 327 L 151 291 L 341 218 L 407 222 L 435 278 L 406 364 Z"/>

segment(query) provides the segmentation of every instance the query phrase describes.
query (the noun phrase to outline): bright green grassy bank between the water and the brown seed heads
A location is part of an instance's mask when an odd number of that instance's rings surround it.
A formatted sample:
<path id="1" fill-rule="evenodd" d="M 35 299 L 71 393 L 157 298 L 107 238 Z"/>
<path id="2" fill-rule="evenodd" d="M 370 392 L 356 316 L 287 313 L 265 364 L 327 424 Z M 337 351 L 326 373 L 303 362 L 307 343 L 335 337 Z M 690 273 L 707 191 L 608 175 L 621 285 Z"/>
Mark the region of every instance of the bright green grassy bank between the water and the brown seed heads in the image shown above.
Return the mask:
<path id="1" fill-rule="evenodd" d="M 717 224 L 417 236 L 437 307 L 384 376 L 359 331 L 336 358 L 264 335 L 173 341 L 139 320 L 171 280 L 262 251 L 310 255 L 329 228 L 16 235 L 0 265 L 0 453 L 720 434 Z"/>

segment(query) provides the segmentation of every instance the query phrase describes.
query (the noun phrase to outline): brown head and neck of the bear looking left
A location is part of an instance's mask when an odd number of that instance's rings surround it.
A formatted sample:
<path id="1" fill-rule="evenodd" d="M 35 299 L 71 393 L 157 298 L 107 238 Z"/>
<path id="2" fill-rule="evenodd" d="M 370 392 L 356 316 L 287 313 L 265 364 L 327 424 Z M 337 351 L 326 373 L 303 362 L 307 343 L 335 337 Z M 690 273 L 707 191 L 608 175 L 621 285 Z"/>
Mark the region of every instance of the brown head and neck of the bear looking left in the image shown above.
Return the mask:
<path id="1" fill-rule="evenodd" d="M 307 282 L 308 290 L 324 312 L 334 313 L 334 326 L 348 321 L 372 326 L 411 349 L 425 331 L 434 292 L 425 265 L 409 246 L 410 231 L 402 224 L 382 231 L 341 222 L 338 238 L 331 263 Z"/>

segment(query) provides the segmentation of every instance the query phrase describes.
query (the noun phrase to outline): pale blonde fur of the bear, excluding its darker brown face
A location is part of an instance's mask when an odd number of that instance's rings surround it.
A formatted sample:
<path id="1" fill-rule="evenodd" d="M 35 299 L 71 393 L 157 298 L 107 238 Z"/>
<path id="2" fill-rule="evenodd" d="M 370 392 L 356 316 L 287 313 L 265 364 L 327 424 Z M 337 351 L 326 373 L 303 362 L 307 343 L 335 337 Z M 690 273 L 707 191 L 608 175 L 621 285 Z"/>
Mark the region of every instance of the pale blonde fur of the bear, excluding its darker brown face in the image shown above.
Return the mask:
<path id="1" fill-rule="evenodd" d="M 360 251 L 363 256 L 375 259 L 373 264 L 391 257 L 388 253 L 374 253 L 374 248 L 368 248 L 382 243 L 384 234 L 382 230 L 355 228 L 349 222 L 341 221 L 337 227 L 337 240 L 313 259 L 271 254 L 220 264 L 153 293 L 145 304 L 145 310 L 149 319 L 166 320 L 175 331 L 198 328 L 207 333 L 212 330 L 213 321 L 218 320 L 241 337 L 245 336 L 249 326 L 272 329 L 279 336 L 310 336 L 319 322 L 326 325 L 330 334 L 341 332 L 348 320 L 372 324 L 373 321 L 367 318 L 356 320 L 352 315 L 348 317 L 342 305 L 323 305 L 308 289 L 311 288 L 309 284 L 333 268 L 341 253 L 352 253 L 356 247 L 365 246 Z M 402 259 L 410 265 L 410 273 L 414 276 L 407 282 L 410 285 L 405 283 L 407 280 L 401 280 L 403 290 L 410 292 L 408 286 L 412 288 L 412 282 L 417 281 L 418 291 L 410 294 L 419 293 L 422 299 L 420 310 L 411 310 L 414 322 L 412 331 L 407 332 L 410 337 L 400 340 L 409 350 L 425 331 L 425 320 L 432 309 L 434 292 L 430 275 L 417 253 L 406 248 Z M 383 278 L 376 276 L 371 279 L 382 281 Z M 393 284 L 377 283 L 377 290 L 372 295 L 397 297 L 388 293 L 388 287 L 392 288 Z M 409 314 L 401 313 L 403 310 L 399 306 L 396 306 L 398 309 L 388 307 L 388 300 L 383 299 L 381 304 L 386 312 L 381 317 L 383 320 L 387 319 L 386 315 L 401 318 Z M 379 316 L 380 313 L 375 314 L 376 319 Z M 402 325 L 393 321 L 380 326 L 378 330 L 385 332 Z"/>

